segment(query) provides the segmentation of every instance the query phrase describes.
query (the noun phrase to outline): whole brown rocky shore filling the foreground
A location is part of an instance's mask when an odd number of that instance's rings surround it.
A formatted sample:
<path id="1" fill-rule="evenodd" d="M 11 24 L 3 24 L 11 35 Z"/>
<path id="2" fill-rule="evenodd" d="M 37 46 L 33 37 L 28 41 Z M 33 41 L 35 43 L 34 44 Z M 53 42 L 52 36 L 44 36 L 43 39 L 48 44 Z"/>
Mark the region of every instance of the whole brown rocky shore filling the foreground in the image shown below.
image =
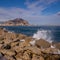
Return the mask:
<path id="1" fill-rule="evenodd" d="M 0 60 L 60 60 L 60 42 L 36 40 L 0 28 Z"/>

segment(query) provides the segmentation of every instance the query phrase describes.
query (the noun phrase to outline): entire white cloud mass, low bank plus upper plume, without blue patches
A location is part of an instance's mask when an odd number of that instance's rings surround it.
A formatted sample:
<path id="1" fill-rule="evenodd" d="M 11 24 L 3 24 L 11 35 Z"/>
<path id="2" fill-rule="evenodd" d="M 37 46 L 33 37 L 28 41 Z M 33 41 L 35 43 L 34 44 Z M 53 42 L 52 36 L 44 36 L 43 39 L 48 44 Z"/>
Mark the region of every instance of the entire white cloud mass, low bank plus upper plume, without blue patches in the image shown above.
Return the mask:
<path id="1" fill-rule="evenodd" d="M 23 18 L 32 24 L 60 24 L 60 12 L 48 16 L 41 15 L 41 11 L 44 10 L 47 5 L 58 0 L 36 0 L 32 3 L 29 1 L 30 0 L 27 0 L 25 2 L 27 9 L 16 7 L 0 8 L 0 21 Z"/>

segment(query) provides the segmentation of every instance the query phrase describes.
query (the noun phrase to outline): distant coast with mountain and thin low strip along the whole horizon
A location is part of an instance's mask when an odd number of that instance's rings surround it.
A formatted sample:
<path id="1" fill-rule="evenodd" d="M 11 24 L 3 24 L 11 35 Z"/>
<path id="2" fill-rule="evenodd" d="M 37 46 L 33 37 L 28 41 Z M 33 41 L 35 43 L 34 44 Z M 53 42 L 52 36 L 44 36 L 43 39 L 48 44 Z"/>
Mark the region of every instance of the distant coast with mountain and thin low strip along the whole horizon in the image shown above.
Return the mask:
<path id="1" fill-rule="evenodd" d="M 22 18 L 16 18 L 8 21 L 0 21 L 0 26 L 60 26 L 60 25 L 38 25 L 38 24 L 30 24 L 27 20 Z"/>

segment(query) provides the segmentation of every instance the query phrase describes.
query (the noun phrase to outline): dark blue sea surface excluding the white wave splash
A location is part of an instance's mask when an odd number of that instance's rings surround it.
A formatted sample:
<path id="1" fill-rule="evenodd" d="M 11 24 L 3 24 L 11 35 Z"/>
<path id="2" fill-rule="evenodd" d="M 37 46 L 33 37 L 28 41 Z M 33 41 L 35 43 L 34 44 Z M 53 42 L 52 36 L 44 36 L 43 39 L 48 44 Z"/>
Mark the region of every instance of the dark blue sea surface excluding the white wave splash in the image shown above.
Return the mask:
<path id="1" fill-rule="evenodd" d="M 5 26 L 3 28 L 27 36 L 33 36 L 38 30 L 50 31 L 49 35 L 51 35 L 52 40 L 60 42 L 60 26 Z"/>

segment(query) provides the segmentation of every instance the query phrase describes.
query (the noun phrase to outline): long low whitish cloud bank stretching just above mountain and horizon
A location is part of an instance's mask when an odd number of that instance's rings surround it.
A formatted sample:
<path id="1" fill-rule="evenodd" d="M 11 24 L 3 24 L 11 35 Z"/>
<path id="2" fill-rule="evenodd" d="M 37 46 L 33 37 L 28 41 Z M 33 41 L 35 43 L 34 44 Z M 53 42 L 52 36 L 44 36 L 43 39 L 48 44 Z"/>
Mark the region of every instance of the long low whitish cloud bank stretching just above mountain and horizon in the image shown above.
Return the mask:
<path id="1" fill-rule="evenodd" d="M 23 18 L 32 24 L 60 24 L 60 16 L 58 16 L 58 14 L 45 16 L 35 13 L 37 12 L 32 12 L 21 8 L 0 8 L 0 21 Z"/>

